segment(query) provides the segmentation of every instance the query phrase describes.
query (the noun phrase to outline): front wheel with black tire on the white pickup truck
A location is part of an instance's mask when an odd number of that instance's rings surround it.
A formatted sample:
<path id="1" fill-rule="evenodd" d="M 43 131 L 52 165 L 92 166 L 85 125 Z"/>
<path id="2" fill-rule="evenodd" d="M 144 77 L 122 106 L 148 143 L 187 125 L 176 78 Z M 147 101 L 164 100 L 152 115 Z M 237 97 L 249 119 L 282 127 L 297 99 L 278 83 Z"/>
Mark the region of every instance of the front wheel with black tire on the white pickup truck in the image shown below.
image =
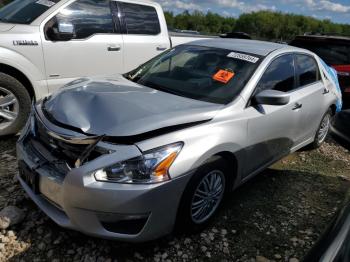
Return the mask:
<path id="1" fill-rule="evenodd" d="M 31 109 L 26 88 L 15 78 L 0 73 L 0 136 L 17 134 Z"/>

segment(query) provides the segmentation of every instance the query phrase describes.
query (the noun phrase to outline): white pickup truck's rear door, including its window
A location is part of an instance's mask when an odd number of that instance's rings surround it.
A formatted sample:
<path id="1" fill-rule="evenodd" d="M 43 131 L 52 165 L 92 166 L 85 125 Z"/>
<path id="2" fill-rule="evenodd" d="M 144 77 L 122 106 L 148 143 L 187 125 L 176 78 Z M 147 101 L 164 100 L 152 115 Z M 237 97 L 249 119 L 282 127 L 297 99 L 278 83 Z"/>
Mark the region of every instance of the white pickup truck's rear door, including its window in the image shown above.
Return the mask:
<path id="1" fill-rule="evenodd" d="M 163 11 L 159 5 L 118 2 L 124 39 L 125 72 L 170 48 Z"/>

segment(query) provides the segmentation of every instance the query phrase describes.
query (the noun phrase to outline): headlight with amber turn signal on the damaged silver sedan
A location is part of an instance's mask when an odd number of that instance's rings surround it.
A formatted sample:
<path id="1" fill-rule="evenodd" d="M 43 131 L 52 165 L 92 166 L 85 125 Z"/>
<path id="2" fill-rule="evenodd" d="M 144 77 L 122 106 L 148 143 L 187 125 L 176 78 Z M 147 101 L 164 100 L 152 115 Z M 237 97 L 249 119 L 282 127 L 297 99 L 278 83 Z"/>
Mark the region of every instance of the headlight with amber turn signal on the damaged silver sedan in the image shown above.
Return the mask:
<path id="1" fill-rule="evenodd" d="M 125 160 L 97 170 L 97 181 L 124 184 L 153 184 L 170 179 L 169 168 L 182 149 L 175 143 L 145 152 L 142 156 Z"/>

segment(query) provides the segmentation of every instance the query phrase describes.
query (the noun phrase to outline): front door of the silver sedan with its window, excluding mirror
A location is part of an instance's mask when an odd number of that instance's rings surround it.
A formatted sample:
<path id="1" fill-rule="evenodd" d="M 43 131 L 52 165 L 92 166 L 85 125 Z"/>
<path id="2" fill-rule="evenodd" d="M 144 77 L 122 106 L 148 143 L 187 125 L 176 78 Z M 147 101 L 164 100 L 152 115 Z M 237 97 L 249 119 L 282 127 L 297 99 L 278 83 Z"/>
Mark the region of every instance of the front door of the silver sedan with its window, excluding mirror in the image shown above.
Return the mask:
<path id="1" fill-rule="evenodd" d="M 302 94 L 296 89 L 294 55 L 276 58 L 260 79 L 255 94 L 274 89 L 290 94 L 287 105 L 256 105 L 252 101 L 248 116 L 248 148 L 245 174 L 249 175 L 271 164 L 299 143 L 302 129 Z M 253 95 L 253 96 L 254 96 Z"/>

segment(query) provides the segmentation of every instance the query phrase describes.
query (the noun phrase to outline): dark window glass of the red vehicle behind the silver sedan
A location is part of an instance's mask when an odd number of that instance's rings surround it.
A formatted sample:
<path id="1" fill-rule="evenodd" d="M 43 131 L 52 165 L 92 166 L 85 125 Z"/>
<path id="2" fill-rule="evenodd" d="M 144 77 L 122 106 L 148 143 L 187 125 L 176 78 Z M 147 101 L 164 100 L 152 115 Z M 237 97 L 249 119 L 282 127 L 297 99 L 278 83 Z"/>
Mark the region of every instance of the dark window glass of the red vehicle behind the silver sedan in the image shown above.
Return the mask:
<path id="1" fill-rule="evenodd" d="M 350 65 L 350 41 L 349 44 L 338 44 L 327 41 L 296 40 L 291 44 L 314 52 L 328 65 Z"/>

